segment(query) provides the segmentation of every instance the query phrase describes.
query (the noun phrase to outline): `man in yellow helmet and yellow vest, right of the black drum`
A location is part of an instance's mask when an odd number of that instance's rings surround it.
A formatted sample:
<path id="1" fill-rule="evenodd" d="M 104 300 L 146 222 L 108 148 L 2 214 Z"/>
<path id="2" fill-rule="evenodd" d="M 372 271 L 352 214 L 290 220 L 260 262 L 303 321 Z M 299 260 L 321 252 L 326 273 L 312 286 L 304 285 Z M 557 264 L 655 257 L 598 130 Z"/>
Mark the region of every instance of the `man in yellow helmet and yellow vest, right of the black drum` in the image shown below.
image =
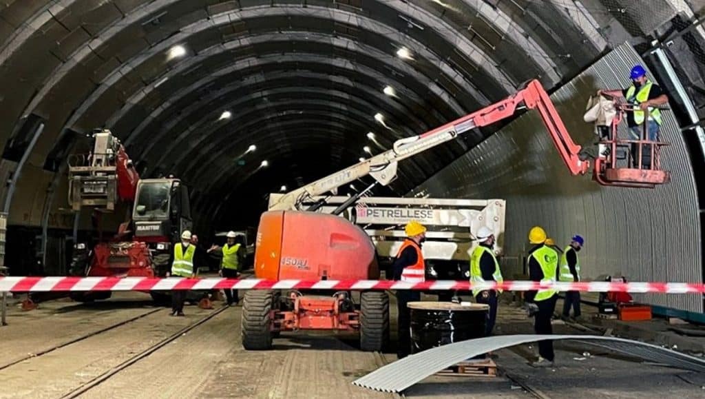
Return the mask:
<path id="1" fill-rule="evenodd" d="M 529 231 L 529 279 L 540 282 L 556 282 L 558 269 L 558 254 L 546 246 L 546 232 L 541 227 L 533 227 Z M 534 332 L 537 334 L 553 334 L 551 317 L 556 309 L 556 290 L 527 291 L 526 302 L 530 313 L 534 314 Z M 539 359 L 532 363 L 534 367 L 553 367 L 553 341 L 539 341 Z"/>

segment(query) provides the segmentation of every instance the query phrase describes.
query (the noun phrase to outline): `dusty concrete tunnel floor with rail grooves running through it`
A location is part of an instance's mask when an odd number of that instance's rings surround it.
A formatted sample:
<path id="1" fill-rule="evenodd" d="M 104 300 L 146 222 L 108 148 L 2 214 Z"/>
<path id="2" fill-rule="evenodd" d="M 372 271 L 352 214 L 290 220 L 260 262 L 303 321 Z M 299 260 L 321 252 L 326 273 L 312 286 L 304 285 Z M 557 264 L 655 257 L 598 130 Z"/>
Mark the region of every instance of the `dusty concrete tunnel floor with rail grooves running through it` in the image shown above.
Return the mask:
<path id="1" fill-rule="evenodd" d="M 216 302 L 219 306 L 219 302 Z M 156 310 L 156 311 L 155 311 Z M 80 398 L 390 398 L 350 382 L 385 362 L 360 352 L 350 335 L 283 335 L 274 350 L 248 352 L 240 344 L 239 306 L 228 308 L 171 343 L 117 371 Z M 392 314 L 396 312 L 392 306 Z M 0 398 L 62 398 L 82 384 L 147 350 L 181 328 L 211 314 L 187 306 L 185 318 L 168 316 L 139 293 L 116 294 L 106 302 L 44 302 L 35 311 L 13 307 L 0 328 Z M 394 316 L 393 316 L 394 318 Z M 121 323 L 134 319 L 129 323 Z M 111 328 L 112 327 L 112 328 Z M 87 333 L 90 338 L 71 343 Z M 556 332 L 577 333 L 557 323 Z M 501 306 L 497 333 L 529 333 L 520 309 Z M 66 344 L 45 355 L 30 357 Z M 496 378 L 434 376 L 413 386 L 413 398 L 702 398 L 705 376 L 639 364 L 594 347 L 556 345 L 556 369 L 533 369 L 525 345 L 497 353 Z M 591 356 L 584 360 L 583 352 Z M 14 363 L 14 364 L 13 364 Z M 12 364 L 8 366 L 8 364 Z M 531 388 L 528 393 L 522 385 Z"/>

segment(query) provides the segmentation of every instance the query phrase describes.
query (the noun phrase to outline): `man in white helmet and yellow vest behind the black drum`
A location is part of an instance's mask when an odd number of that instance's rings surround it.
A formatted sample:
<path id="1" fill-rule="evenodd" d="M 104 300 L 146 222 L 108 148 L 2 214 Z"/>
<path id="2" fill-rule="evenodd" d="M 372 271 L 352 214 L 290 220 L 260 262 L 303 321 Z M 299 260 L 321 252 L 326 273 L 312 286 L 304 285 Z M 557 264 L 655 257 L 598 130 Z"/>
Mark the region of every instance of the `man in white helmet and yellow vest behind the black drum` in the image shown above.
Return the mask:
<path id="1" fill-rule="evenodd" d="M 477 230 L 475 237 L 480 243 L 470 256 L 470 282 L 473 284 L 493 280 L 502 282 L 502 272 L 494 255 L 494 234 L 489 228 L 482 226 Z M 501 290 L 499 292 L 501 293 Z M 492 334 L 497 319 L 498 291 L 474 288 L 472 296 L 478 304 L 489 306 L 485 321 L 485 335 L 489 336 Z"/>

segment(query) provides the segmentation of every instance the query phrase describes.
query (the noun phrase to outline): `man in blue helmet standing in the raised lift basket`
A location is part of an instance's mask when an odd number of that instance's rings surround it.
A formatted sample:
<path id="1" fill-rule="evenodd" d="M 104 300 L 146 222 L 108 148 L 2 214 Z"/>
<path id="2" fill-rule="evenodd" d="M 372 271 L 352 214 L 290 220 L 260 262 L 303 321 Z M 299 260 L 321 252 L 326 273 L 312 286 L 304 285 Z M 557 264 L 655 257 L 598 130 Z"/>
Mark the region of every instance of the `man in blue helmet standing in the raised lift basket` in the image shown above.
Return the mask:
<path id="1" fill-rule="evenodd" d="M 598 95 L 623 96 L 634 107 L 626 112 L 627 126 L 630 129 L 630 139 L 658 141 L 661 130 L 661 111 L 658 106 L 668 102 L 668 96 L 661 86 L 646 78 L 644 66 L 635 65 L 630 72 L 632 85 L 623 90 L 599 90 Z M 644 128 L 647 134 L 644 135 Z M 639 146 L 632 144 L 633 167 L 639 166 Z M 651 145 L 642 145 L 642 168 L 651 168 Z"/>

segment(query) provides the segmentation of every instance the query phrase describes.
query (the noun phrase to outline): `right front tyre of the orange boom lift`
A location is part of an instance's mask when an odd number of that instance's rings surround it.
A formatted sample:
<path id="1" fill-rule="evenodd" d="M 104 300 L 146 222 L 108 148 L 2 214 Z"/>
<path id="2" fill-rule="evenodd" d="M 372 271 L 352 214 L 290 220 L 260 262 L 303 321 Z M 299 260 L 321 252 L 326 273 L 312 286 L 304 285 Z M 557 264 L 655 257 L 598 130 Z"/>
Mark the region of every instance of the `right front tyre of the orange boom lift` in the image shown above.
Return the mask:
<path id="1" fill-rule="evenodd" d="M 381 352 L 389 340 L 389 297 L 386 292 L 360 295 L 360 349 Z"/>

